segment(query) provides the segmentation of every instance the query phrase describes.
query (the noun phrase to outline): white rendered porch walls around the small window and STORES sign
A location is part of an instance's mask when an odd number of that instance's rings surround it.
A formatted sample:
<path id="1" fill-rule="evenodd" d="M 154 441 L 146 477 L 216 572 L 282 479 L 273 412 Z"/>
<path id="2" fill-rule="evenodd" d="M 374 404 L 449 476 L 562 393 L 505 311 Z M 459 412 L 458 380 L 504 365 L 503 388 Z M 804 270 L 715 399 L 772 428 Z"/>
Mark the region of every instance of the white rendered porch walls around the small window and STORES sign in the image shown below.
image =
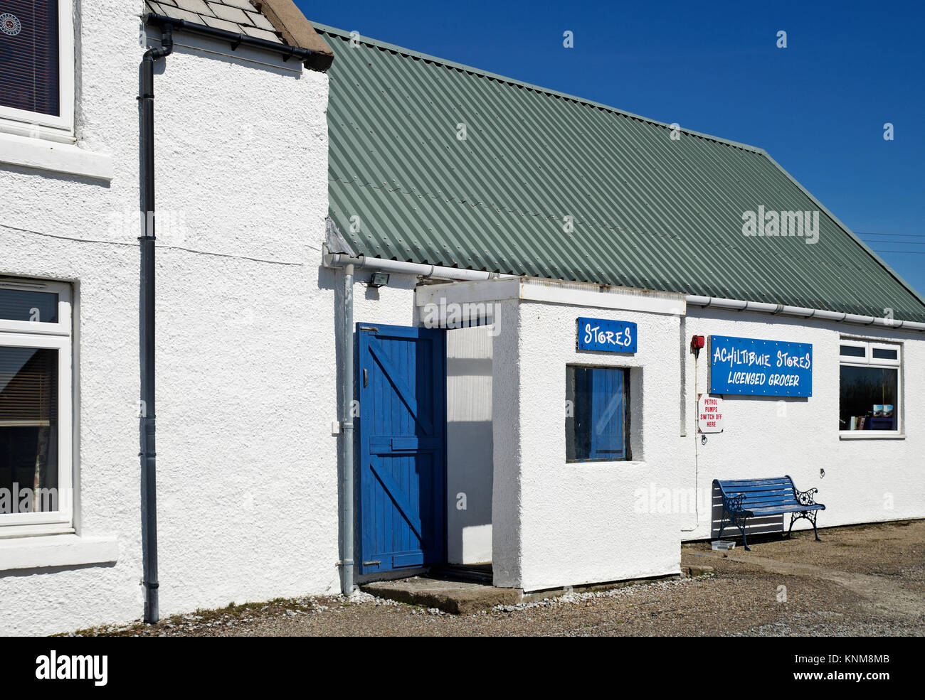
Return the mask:
<path id="1" fill-rule="evenodd" d="M 538 590 L 677 573 L 678 514 L 635 504 L 639 489 L 676 485 L 685 469 L 679 317 L 514 301 L 502 309 L 511 325 L 495 345 L 496 585 Z M 579 316 L 635 322 L 637 352 L 578 352 Z M 567 364 L 631 368 L 633 461 L 566 463 Z"/>

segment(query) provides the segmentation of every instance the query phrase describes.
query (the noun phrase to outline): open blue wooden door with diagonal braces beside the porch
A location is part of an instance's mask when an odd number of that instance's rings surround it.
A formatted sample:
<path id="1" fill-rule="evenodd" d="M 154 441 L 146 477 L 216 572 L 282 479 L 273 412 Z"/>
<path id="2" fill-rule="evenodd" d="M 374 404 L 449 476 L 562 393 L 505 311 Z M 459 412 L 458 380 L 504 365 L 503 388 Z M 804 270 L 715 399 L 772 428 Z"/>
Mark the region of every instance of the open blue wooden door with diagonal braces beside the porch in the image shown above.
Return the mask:
<path id="1" fill-rule="evenodd" d="M 360 573 L 445 560 L 446 341 L 357 324 Z"/>

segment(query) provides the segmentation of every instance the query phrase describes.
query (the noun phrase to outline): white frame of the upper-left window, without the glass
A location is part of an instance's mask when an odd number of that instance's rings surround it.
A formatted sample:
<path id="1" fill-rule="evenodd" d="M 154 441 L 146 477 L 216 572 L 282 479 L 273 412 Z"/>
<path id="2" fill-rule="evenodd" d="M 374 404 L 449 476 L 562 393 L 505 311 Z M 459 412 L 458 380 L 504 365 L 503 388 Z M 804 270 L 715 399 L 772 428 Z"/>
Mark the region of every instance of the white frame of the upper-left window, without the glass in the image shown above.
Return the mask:
<path id="1" fill-rule="evenodd" d="M 25 126 L 39 135 L 73 138 L 74 133 L 74 73 L 77 56 L 74 53 L 74 6 L 71 0 L 58 0 L 58 115 L 14 109 L 0 105 L 0 128 L 12 127 L 21 132 Z M 45 131 L 45 134 L 42 132 Z"/>

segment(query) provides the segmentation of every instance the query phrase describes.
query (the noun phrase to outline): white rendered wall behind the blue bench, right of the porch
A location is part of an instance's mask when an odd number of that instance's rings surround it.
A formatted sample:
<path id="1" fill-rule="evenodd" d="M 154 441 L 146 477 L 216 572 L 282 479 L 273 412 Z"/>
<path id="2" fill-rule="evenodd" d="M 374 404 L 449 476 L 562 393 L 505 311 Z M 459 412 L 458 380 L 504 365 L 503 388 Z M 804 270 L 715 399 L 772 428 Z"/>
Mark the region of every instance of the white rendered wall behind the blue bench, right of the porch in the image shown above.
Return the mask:
<path id="1" fill-rule="evenodd" d="M 694 425 L 694 365 L 687 356 L 686 400 L 688 442 L 685 452 L 697 450 L 699 503 L 709 503 L 714 478 L 780 477 L 789 474 L 796 488 L 816 487 L 816 500 L 826 510 L 819 525 L 848 525 L 925 517 L 925 337 L 920 333 L 882 327 L 803 321 L 767 314 L 739 313 L 688 306 L 685 335 L 732 335 L 745 338 L 811 343 L 812 396 L 780 398 L 728 395 L 723 402 L 722 433 L 701 445 Z M 900 416 L 905 440 L 874 438 L 840 440 L 838 433 L 839 339 L 855 337 L 902 344 L 902 399 Z M 709 355 L 698 361 L 699 392 L 707 392 Z M 820 469 L 825 477 L 820 477 Z M 686 462 L 684 489 L 694 488 L 694 465 Z M 710 515 L 683 513 L 685 539 L 711 537 Z M 782 518 L 778 518 L 778 531 Z M 783 522 L 790 524 L 789 517 Z M 811 527 L 796 521 L 794 529 Z M 729 532 L 727 530 L 727 532 Z M 737 536 L 738 531 L 732 532 Z M 714 527 L 712 535 L 715 536 Z M 726 533 L 723 533 L 725 537 Z M 822 535 L 821 537 L 825 537 Z"/>

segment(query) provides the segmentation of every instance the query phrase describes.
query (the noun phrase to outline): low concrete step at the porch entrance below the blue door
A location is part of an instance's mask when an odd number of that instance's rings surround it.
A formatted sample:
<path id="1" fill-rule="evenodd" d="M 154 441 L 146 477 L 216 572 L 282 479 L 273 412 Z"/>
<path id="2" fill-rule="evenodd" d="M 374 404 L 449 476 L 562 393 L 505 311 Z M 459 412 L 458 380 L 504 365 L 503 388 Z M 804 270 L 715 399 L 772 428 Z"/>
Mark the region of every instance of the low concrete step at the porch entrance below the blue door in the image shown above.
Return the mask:
<path id="1" fill-rule="evenodd" d="M 496 605 L 516 605 L 522 597 L 519 588 L 498 588 L 494 585 L 427 576 L 413 576 L 398 581 L 376 581 L 361 585 L 360 589 L 373 596 L 424 608 L 438 608 L 454 615 L 465 615 L 494 608 Z"/>

